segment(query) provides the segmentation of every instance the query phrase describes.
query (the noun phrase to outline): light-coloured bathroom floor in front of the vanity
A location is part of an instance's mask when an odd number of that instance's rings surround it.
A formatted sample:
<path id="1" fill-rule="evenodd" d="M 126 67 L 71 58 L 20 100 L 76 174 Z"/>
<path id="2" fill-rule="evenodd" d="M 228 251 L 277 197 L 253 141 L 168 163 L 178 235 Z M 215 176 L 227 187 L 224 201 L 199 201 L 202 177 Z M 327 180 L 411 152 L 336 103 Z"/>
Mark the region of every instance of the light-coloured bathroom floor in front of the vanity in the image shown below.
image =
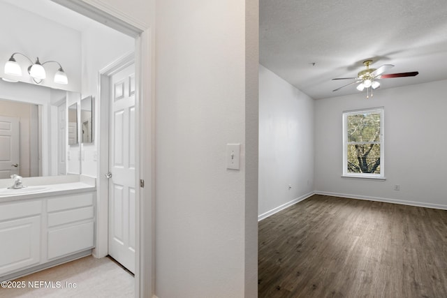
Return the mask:
<path id="1" fill-rule="evenodd" d="M 15 288 L 0 287 L 0 298 L 135 297 L 133 276 L 108 257 L 74 260 L 17 278 L 14 285 Z"/>

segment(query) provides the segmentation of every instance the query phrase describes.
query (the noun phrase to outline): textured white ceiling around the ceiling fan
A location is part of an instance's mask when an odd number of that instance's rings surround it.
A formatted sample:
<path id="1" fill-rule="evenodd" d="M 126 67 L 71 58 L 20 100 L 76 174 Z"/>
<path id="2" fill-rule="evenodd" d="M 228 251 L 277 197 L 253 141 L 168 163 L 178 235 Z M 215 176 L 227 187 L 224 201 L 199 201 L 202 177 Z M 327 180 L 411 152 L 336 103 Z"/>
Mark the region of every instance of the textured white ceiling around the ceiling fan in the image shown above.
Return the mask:
<path id="1" fill-rule="evenodd" d="M 314 99 L 356 94 L 362 64 L 419 71 L 381 89 L 447 79 L 447 1 L 260 0 L 260 63 Z M 313 65 L 315 63 L 315 65 Z"/>

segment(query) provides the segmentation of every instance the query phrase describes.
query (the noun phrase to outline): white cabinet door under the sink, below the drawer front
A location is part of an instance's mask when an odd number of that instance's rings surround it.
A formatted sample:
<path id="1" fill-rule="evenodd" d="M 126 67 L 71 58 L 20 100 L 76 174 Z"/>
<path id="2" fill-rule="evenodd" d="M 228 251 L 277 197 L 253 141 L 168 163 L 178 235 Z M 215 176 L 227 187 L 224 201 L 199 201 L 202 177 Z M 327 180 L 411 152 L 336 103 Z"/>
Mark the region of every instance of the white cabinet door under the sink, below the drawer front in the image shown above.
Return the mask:
<path id="1" fill-rule="evenodd" d="M 37 265 L 41 255 L 41 216 L 0 223 L 0 276 Z"/>

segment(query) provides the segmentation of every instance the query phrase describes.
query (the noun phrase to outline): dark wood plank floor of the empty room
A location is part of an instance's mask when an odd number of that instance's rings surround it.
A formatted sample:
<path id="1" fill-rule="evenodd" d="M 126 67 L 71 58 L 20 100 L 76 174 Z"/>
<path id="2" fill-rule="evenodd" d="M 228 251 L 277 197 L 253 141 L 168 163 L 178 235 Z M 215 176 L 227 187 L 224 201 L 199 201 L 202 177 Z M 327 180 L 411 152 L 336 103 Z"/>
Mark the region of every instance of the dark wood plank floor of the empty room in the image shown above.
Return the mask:
<path id="1" fill-rule="evenodd" d="M 258 297 L 447 297 L 446 210 L 314 195 L 258 227 Z"/>

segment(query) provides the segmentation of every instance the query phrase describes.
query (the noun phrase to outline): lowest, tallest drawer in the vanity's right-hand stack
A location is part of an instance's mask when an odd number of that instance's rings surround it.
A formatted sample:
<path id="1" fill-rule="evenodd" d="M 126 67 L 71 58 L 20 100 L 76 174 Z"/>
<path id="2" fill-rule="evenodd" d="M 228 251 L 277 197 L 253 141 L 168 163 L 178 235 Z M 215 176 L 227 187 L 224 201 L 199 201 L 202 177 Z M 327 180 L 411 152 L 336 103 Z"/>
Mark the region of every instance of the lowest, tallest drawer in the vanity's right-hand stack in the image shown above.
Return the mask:
<path id="1" fill-rule="evenodd" d="M 93 221 L 48 231 L 48 260 L 93 247 Z"/>

